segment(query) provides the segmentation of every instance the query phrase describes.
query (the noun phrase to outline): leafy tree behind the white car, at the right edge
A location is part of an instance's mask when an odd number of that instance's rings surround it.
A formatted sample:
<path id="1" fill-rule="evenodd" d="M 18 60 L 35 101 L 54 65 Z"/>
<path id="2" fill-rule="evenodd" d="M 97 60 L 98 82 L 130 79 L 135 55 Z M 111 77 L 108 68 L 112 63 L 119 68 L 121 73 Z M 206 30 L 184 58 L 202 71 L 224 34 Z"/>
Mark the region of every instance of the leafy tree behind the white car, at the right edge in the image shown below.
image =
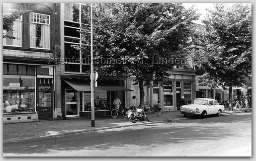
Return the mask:
<path id="1" fill-rule="evenodd" d="M 231 103 L 232 86 L 242 86 L 252 75 L 252 4 L 216 3 L 203 23 L 206 34 L 197 54 L 207 61 L 197 62 L 206 71 L 201 79 L 228 87 Z"/>

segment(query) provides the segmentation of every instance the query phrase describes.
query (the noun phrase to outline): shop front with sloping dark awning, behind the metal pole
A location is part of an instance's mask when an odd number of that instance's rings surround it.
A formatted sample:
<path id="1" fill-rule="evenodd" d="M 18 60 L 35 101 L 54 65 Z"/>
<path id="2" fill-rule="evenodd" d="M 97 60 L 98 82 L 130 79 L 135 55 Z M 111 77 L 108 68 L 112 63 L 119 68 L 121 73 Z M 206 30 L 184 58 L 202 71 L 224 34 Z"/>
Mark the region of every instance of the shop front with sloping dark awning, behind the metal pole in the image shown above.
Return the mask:
<path id="1" fill-rule="evenodd" d="M 64 76 L 65 77 L 65 76 Z M 89 79 L 63 79 L 63 119 L 69 117 L 91 116 L 91 88 Z M 125 87 L 124 80 L 99 80 L 94 87 L 94 111 L 95 116 L 110 115 L 114 108 L 115 96 L 125 106 L 125 92 L 132 91 Z"/>

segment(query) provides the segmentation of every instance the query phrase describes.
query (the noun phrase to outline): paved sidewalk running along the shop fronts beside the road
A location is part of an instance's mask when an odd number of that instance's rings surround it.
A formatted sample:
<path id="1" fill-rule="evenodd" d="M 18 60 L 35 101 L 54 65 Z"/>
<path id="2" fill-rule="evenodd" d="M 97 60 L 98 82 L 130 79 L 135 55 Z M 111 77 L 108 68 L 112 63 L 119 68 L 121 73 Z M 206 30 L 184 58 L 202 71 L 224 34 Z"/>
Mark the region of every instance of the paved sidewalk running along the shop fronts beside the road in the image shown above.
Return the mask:
<path id="1" fill-rule="evenodd" d="M 229 111 L 229 109 L 225 109 L 225 111 L 222 112 L 222 115 L 251 110 L 252 109 Z M 118 116 L 117 118 L 112 118 L 111 116 L 95 117 L 95 127 L 91 127 L 90 118 L 84 117 L 69 118 L 66 120 L 3 124 L 3 142 L 17 142 L 29 139 L 187 119 L 179 113 L 179 111 L 162 112 L 163 116 L 159 117 L 157 116 L 157 113 L 158 112 L 147 113 L 150 122 L 137 121 L 137 123 L 132 123 L 127 117 L 123 116 Z"/>

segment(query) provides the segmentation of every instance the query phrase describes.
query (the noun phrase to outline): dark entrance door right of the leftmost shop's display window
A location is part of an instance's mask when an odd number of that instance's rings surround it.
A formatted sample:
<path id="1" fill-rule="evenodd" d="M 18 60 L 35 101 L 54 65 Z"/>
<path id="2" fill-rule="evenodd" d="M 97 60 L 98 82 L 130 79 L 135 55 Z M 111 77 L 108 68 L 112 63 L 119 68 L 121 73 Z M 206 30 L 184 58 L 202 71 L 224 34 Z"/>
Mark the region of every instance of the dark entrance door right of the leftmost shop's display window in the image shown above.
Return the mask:
<path id="1" fill-rule="evenodd" d="M 53 85 L 38 86 L 37 113 L 39 120 L 53 119 Z"/>

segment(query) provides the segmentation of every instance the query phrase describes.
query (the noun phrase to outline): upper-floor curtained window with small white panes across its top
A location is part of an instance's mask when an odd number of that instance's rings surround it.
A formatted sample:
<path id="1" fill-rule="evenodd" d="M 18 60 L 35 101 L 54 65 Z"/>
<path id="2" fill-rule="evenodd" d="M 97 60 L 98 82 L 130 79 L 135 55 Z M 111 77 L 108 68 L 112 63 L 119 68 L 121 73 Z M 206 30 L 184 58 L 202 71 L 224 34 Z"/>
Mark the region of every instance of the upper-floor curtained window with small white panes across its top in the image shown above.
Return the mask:
<path id="1" fill-rule="evenodd" d="M 50 49 L 50 15 L 31 12 L 29 28 L 30 47 Z"/>

